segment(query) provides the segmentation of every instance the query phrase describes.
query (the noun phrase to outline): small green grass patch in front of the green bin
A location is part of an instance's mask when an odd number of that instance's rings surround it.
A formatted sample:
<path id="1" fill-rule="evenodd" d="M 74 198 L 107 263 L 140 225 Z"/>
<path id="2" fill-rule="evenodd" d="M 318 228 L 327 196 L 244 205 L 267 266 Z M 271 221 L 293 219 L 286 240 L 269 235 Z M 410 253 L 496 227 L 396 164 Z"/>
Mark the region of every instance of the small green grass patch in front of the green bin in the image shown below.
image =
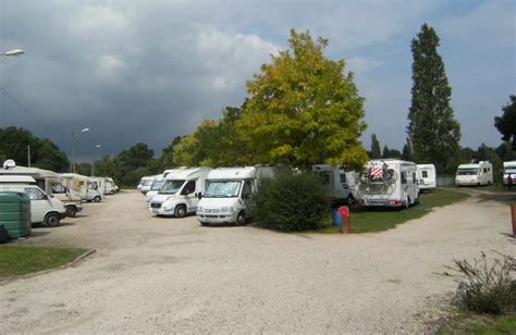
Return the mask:
<path id="1" fill-rule="evenodd" d="M 0 246 L 0 277 L 58 268 L 84 252 L 76 248 Z"/>

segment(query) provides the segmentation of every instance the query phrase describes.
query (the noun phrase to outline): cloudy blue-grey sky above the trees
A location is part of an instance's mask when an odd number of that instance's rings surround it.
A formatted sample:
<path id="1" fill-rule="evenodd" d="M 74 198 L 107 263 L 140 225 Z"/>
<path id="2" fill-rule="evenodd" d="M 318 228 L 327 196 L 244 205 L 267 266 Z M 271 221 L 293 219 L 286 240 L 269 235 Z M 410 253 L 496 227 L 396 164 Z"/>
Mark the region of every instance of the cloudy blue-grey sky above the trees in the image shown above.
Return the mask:
<path id="1" fill-rule="evenodd" d="M 0 127 L 25 127 L 66 153 L 71 132 L 89 127 L 77 137 L 82 158 L 97 144 L 114 154 L 138 141 L 159 156 L 202 119 L 241 106 L 246 80 L 294 27 L 329 38 L 327 55 L 355 72 L 366 148 L 376 133 L 401 149 L 410 40 L 428 23 L 441 38 L 462 145 L 497 146 L 493 117 L 516 94 L 515 12 L 513 0 L 0 0 L 0 52 L 26 51 L 0 58 Z"/>

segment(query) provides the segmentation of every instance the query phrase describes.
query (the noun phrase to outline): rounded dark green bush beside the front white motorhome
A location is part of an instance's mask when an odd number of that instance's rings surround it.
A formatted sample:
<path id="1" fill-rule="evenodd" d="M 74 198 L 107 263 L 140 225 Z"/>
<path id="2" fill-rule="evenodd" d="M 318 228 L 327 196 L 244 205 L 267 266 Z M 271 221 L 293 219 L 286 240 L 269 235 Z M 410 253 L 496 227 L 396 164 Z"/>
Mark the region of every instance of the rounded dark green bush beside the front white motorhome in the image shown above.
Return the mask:
<path id="1" fill-rule="evenodd" d="M 280 171 L 262 179 L 253 196 L 255 225 L 280 232 L 318 229 L 330 211 L 330 196 L 317 175 Z"/>

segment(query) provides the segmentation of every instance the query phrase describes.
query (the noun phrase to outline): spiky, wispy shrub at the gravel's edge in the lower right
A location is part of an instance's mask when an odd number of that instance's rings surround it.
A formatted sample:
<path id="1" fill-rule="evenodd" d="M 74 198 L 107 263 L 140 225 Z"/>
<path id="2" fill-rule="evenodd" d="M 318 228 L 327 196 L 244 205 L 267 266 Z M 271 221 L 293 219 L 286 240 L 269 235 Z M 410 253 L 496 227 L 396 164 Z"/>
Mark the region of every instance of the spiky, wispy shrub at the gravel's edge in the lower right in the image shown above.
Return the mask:
<path id="1" fill-rule="evenodd" d="M 497 253 L 497 252 L 496 252 Z M 516 259 L 501 255 L 488 263 L 486 253 L 474 263 L 454 260 L 445 273 L 459 283 L 457 302 L 474 312 L 502 314 L 516 309 Z"/>

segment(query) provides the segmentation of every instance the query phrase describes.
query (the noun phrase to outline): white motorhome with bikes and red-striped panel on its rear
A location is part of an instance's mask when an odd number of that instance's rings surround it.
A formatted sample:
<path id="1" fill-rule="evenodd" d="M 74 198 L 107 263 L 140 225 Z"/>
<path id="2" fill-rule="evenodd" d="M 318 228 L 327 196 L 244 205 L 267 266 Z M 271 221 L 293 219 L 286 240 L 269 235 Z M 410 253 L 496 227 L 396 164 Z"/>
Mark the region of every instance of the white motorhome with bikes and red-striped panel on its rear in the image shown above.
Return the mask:
<path id="1" fill-rule="evenodd" d="M 371 160 L 360 175 L 359 202 L 367 207 L 405 207 L 419 202 L 416 163 Z"/>

